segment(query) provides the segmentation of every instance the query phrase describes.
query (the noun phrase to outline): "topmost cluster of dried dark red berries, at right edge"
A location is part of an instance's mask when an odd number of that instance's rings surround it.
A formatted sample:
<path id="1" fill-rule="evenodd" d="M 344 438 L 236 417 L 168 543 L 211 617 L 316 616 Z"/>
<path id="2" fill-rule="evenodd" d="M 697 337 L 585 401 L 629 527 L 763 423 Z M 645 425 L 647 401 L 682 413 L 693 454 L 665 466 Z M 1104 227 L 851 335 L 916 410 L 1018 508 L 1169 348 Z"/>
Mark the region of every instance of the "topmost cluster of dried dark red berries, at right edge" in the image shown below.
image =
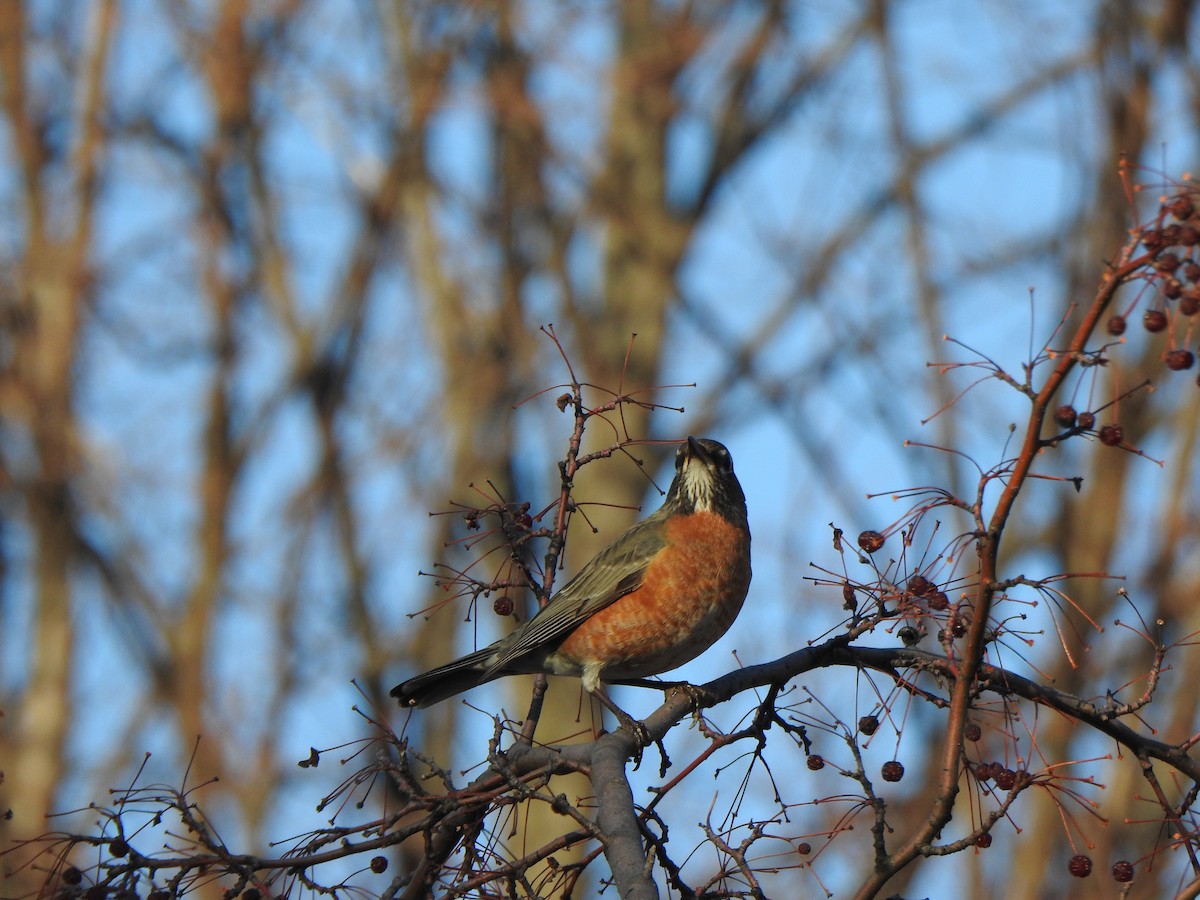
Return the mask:
<path id="1" fill-rule="evenodd" d="M 1186 372 L 1195 365 L 1190 319 L 1200 313 L 1200 190 L 1188 187 L 1163 203 L 1154 224 L 1141 232 L 1141 245 L 1153 254 L 1146 268 L 1146 280 L 1156 288 L 1154 305 L 1142 313 L 1146 331 L 1168 331 L 1169 349 L 1163 364 L 1172 372 Z M 1110 335 L 1123 335 L 1127 316 L 1109 319 Z M 1200 385 L 1200 378 L 1196 379 Z"/>

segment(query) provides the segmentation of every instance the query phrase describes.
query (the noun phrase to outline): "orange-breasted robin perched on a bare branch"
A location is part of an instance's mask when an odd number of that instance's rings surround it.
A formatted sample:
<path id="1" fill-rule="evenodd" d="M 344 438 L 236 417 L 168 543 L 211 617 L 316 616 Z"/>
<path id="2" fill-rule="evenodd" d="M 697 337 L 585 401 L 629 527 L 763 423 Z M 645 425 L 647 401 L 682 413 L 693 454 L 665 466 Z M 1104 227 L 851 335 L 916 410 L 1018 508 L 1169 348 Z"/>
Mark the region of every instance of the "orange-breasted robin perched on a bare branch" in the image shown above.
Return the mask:
<path id="1" fill-rule="evenodd" d="M 428 707 L 510 674 L 577 676 L 623 720 L 602 683 L 678 668 L 724 635 L 750 588 L 750 523 L 730 451 L 689 437 L 662 505 L 588 562 L 506 637 L 391 690 Z"/>

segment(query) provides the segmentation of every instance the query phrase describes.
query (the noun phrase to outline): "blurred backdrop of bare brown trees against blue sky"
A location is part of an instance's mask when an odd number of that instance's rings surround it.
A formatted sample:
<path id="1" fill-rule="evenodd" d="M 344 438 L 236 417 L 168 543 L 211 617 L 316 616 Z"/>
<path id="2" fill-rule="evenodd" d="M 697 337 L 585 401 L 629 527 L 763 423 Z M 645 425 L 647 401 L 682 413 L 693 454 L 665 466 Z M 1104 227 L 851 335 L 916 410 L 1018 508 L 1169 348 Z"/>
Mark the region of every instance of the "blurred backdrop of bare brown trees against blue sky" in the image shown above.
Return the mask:
<path id="1" fill-rule="evenodd" d="M 230 845 L 262 847 L 320 793 L 295 760 L 355 733 L 350 678 L 391 710 L 401 674 L 503 628 L 486 602 L 408 614 L 446 599 L 418 569 L 469 560 L 445 550 L 461 520 L 428 511 L 554 488 L 566 425 L 514 412 L 563 380 L 542 323 L 592 384 L 697 383 L 648 392 L 686 412 L 631 412 L 632 436 L 733 451 L 756 581 L 708 671 L 820 635 L 839 602 L 800 576 L 827 523 L 972 478 L 900 448 L 962 386 L 924 367 L 942 336 L 1016 370 L 1123 241 L 1117 161 L 1189 168 L 1194 6 L 0 4 L 0 840 L 154 750 L 162 780 L 220 775 Z M 1114 383 L 1163 378 L 1142 347 Z M 1116 389 L 1092 390 L 1080 408 Z M 1075 451 L 1082 493 L 1025 508 L 1014 565 L 1121 572 L 1147 620 L 1194 630 L 1198 397 L 1181 376 L 1123 403 L 1127 442 L 1169 464 Z M 920 438 L 988 464 L 1008 402 Z M 656 504 L 628 461 L 587 474 L 599 534 L 576 522 L 568 570 Z M 1110 583 L 1075 596 L 1117 614 Z M 1048 640 L 1030 661 L 1085 695 L 1133 671 L 1075 659 Z M 1198 728 L 1200 660 L 1177 665 L 1172 736 Z M 505 696 L 527 689 L 480 694 Z M 548 696 L 560 730 L 539 737 L 589 728 L 574 686 Z M 413 727 L 454 758 L 463 720 Z M 1064 721 L 1038 740 L 1096 751 Z M 1132 774 L 1098 775 L 1111 822 L 1141 815 Z M 1057 810 L 1019 824 L 944 864 L 961 896 L 997 874 L 1049 890 Z M 1098 858 L 1129 840 L 1088 836 Z"/>

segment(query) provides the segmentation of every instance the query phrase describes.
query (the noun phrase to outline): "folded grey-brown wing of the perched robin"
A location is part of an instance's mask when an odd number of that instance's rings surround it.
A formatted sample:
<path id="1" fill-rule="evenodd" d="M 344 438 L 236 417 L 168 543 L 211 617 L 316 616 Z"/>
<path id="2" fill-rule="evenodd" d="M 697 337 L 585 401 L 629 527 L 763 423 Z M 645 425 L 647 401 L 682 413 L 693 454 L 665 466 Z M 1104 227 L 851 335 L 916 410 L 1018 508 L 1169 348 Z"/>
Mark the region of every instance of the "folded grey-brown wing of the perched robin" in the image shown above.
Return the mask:
<path id="1" fill-rule="evenodd" d="M 659 510 L 596 553 L 536 616 L 502 642 L 487 673 L 499 672 L 528 653 L 552 649 L 554 641 L 565 640 L 589 616 L 637 590 L 666 544 L 662 518 Z"/>

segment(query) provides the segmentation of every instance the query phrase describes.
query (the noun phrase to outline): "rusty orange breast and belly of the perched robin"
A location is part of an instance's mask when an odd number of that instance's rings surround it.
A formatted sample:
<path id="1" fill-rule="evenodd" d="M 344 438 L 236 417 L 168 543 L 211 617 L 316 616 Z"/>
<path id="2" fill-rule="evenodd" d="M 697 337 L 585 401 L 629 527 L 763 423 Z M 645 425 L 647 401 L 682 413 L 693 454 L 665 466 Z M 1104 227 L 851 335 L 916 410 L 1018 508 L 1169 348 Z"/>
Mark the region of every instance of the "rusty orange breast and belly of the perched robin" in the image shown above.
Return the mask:
<path id="1" fill-rule="evenodd" d="M 750 586 L 750 535 L 713 512 L 667 520 L 667 545 L 642 586 L 593 614 L 556 655 L 602 678 L 659 674 L 733 624 Z"/>

